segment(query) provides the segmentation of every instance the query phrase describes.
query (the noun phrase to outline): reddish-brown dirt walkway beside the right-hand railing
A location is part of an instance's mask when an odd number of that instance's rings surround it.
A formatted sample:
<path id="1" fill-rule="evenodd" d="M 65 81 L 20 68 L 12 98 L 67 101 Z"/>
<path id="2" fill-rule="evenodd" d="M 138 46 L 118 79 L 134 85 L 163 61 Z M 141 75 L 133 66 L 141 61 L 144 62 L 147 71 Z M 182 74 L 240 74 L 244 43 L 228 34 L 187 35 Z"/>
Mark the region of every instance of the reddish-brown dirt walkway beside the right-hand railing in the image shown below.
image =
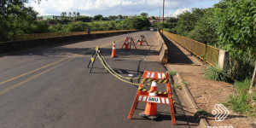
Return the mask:
<path id="1" fill-rule="evenodd" d="M 191 55 L 187 50 L 183 49 L 174 41 L 165 38 L 166 45 L 169 49 L 169 61 L 166 65 L 169 71 L 176 71 L 183 79 L 183 85 L 189 90 L 199 110 L 205 110 L 210 115 L 207 117 L 207 122 L 211 126 L 233 126 L 235 128 L 256 127 L 255 119 L 233 113 L 230 108 L 230 114 L 224 121 L 216 121 L 212 111 L 217 103 L 227 102 L 229 96 L 235 92 L 232 84 L 227 84 L 219 81 L 212 81 L 204 78 L 203 69 L 206 67 L 194 55 Z M 176 80 L 177 81 L 177 80 Z M 175 83 L 181 84 L 181 83 Z M 179 98 L 183 98 L 183 94 L 176 90 Z M 187 107 L 185 106 L 187 105 Z M 189 104 L 184 103 L 183 108 L 187 111 L 186 114 L 195 115 Z M 196 126 L 196 125 L 195 125 Z M 193 125 L 191 125 L 193 127 Z"/>

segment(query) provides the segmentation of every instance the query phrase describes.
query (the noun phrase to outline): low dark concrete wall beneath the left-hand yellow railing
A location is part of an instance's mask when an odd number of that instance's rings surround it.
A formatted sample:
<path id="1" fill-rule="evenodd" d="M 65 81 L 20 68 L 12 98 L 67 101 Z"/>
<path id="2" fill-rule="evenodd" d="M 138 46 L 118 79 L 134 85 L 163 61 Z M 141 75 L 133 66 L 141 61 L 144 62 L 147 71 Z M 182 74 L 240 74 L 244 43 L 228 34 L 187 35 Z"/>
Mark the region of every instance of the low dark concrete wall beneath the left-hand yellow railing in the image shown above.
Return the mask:
<path id="1" fill-rule="evenodd" d="M 22 49 L 32 49 L 32 48 L 50 46 L 55 44 L 65 44 L 65 43 L 72 43 L 76 41 L 85 41 L 92 38 L 104 38 L 104 37 L 124 34 L 128 32 L 137 32 L 137 31 L 80 34 L 80 35 L 62 36 L 62 37 L 53 37 L 53 38 L 37 38 L 37 39 L 28 39 L 28 40 L 21 40 L 21 41 L 2 42 L 0 43 L 0 54 L 14 52 Z"/>

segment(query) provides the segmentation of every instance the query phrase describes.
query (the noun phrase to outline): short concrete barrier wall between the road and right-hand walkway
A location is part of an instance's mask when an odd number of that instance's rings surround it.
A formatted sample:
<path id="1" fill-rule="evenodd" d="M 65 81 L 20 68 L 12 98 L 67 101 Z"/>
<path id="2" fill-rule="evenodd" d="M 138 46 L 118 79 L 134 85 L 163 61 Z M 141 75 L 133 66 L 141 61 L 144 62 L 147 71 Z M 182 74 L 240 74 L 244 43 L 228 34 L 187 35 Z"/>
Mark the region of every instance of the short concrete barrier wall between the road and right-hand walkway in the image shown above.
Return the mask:
<path id="1" fill-rule="evenodd" d="M 157 41 L 158 41 L 158 44 L 160 45 L 160 49 L 159 49 L 160 62 L 167 63 L 168 62 L 168 49 L 167 49 L 164 39 L 160 35 L 160 32 L 157 32 Z"/>

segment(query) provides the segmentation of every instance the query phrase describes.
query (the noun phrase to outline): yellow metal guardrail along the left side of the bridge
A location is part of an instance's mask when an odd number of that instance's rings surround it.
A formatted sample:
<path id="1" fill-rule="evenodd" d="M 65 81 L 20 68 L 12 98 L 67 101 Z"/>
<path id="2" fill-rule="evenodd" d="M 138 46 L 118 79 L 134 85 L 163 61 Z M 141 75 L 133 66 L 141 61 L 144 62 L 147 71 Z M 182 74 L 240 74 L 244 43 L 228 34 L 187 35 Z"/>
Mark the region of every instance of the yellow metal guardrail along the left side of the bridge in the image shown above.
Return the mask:
<path id="1" fill-rule="evenodd" d="M 129 31 L 136 31 L 136 29 L 131 29 L 131 30 L 111 30 L 111 31 L 95 31 L 95 32 L 90 32 L 90 34 L 111 33 L 111 32 L 129 32 Z M 28 39 L 37 39 L 37 38 L 55 38 L 55 37 L 73 36 L 73 35 L 84 35 L 84 34 L 88 34 L 88 33 L 87 32 L 35 33 L 35 34 L 25 34 L 25 35 L 14 35 L 14 36 L 10 37 L 10 41 L 28 40 Z"/>

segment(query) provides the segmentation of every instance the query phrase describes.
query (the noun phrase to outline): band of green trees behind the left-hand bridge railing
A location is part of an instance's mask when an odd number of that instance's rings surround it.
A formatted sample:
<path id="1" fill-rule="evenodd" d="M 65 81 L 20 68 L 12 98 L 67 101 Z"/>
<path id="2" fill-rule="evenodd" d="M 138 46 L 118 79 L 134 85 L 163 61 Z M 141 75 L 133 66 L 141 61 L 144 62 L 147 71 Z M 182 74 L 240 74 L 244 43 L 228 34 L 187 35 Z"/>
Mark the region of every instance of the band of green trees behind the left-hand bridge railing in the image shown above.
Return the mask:
<path id="1" fill-rule="evenodd" d="M 37 1 L 40 3 L 40 0 Z M 27 0 L 0 2 L 0 42 L 9 41 L 15 35 L 47 32 L 84 32 L 122 29 L 145 29 L 150 22 L 147 13 L 128 18 L 122 15 L 93 17 L 80 15 L 79 12 L 62 12 L 61 16 L 48 16 L 55 19 L 43 20 L 31 7 L 26 7 Z"/>

